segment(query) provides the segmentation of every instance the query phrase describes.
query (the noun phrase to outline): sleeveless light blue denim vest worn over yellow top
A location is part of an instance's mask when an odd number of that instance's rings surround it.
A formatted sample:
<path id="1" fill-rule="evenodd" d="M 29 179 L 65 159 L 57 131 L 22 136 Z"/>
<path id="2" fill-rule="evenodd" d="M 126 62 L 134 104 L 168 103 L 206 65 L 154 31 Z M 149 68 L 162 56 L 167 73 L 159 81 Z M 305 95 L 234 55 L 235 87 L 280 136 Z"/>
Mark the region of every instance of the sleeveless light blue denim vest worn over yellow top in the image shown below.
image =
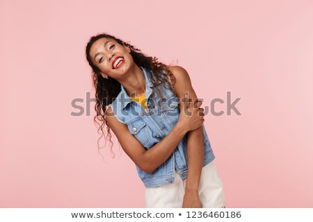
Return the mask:
<path id="1" fill-rule="evenodd" d="M 143 69 L 143 68 L 141 68 Z M 115 98 L 109 107 L 118 121 L 127 125 L 131 135 L 134 135 L 139 142 L 148 150 L 160 142 L 170 130 L 175 126 L 179 119 L 179 99 L 171 89 L 163 85 L 161 87 L 163 98 L 161 99 L 155 90 L 147 71 L 145 74 L 145 98 L 147 99 L 148 111 L 136 101 L 130 99 L 124 87 L 121 85 L 120 94 Z M 203 166 L 214 160 L 215 156 L 211 149 L 211 144 L 207 133 L 202 125 L 204 133 L 204 162 Z M 136 166 L 138 175 L 145 187 L 158 187 L 174 183 L 175 170 L 184 180 L 187 176 L 187 136 L 179 142 L 175 151 L 170 155 L 166 162 L 163 162 L 154 172 L 147 173 Z"/>

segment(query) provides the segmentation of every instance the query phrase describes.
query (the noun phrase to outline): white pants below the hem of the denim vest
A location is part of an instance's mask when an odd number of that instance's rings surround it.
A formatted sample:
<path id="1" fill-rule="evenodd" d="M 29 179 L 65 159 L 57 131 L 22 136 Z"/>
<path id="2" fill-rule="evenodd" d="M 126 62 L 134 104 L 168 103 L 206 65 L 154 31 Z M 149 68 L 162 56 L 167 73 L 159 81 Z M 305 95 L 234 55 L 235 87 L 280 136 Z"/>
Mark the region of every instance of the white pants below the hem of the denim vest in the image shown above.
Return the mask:
<path id="1" fill-rule="evenodd" d="M 175 171 L 175 183 L 145 190 L 145 207 L 182 207 L 185 187 L 186 180 Z M 213 161 L 202 168 L 199 196 L 202 208 L 225 207 L 223 183 Z"/>

